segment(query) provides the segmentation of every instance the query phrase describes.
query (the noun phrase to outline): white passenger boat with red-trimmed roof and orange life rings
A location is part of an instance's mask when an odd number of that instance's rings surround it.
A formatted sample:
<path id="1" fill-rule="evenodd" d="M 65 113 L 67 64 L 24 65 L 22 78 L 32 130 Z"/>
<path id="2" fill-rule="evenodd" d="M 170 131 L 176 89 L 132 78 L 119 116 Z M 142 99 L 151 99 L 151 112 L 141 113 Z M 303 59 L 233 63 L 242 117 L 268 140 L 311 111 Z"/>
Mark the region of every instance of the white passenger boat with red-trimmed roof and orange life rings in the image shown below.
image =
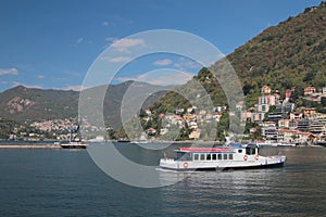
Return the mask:
<path id="1" fill-rule="evenodd" d="M 221 148 L 180 148 L 176 158 L 161 158 L 160 167 L 173 170 L 223 170 L 283 166 L 286 156 L 262 156 L 255 144 Z"/>

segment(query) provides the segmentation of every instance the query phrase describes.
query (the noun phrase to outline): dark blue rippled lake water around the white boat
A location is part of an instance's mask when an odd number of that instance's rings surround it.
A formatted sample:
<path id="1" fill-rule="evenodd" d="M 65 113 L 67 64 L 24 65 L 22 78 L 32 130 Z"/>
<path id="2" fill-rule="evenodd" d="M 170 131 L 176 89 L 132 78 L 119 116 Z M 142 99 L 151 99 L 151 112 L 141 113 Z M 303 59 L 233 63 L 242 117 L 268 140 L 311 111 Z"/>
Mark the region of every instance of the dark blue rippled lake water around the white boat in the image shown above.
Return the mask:
<path id="1" fill-rule="evenodd" d="M 122 145 L 143 164 L 161 153 Z M 0 150 L 0 216 L 325 216 L 326 149 L 265 148 L 283 168 L 195 173 L 141 189 L 103 174 L 87 151 Z M 145 153 L 154 153 L 143 159 Z M 180 175 L 181 176 L 181 175 Z"/>

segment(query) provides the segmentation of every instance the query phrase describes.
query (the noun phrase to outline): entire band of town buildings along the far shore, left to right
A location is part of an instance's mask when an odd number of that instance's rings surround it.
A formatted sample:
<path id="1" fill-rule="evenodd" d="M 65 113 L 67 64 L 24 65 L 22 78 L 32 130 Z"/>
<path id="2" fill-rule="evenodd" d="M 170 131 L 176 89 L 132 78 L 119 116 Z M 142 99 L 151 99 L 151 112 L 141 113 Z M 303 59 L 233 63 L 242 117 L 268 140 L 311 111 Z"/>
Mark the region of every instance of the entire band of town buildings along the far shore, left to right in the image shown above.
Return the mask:
<path id="1" fill-rule="evenodd" d="M 283 142 L 294 144 L 315 144 L 325 142 L 326 140 L 326 114 L 318 112 L 314 106 L 298 106 L 291 102 L 291 93 L 294 90 L 286 90 L 285 98 L 277 90 L 273 90 L 265 85 L 261 88 L 261 95 L 258 103 L 253 107 L 242 111 L 241 120 L 246 122 L 244 140 L 254 142 Z M 321 107 L 326 106 L 326 87 L 317 90 L 315 87 L 305 87 L 303 95 L 300 95 L 308 102 L 319 104 Z M 243 103 L 238 103 L 241 108 Z M 323 112 L 323 111 L 322 111 Z M 227 106 L 215 106 L 212 111 L 197 110 L 196 106 L 188 108 L 176 108 L 175 114 L 160 113 L 158 118 L 164 119 L 164 125 L 158 125 L 153 120 L 153 114 L 150 110 L 141 110 L 139 117 L 141 118 L 145 133 L 142 139 L 147 140 L 199 140 L 208 141 L 223 140 L 218 137 L 215 126 L 221 127 L 223 117 L 228 116 Z M 228 122 L 228 119 L 227 119 Z M 205 126 L 205 127 L 201 127 Z M 21 125 L 14 127 L 9 133 L 9 140 L 68 140 L 72 129 L 77 128 L 76 118 L 54 119 L 46 122 L 35 122 L 28 127 Z M 84 130 L 97 131 L 89 124 L 83 125 Z M 101 137 L 101 140 L 106 139 L 126 139 L 127 136 L 120 131 L 113 131 L 108 128 L 106 137 Z M 225 129 L 223 129 L 225 135 Z M 131 140 L 139 139 L 139 135 L 129 133 L 127 138 Z M 93 139 L 93 138 L 86 138 Z M 242 138 L 243 139 L 243 138 Z"/>

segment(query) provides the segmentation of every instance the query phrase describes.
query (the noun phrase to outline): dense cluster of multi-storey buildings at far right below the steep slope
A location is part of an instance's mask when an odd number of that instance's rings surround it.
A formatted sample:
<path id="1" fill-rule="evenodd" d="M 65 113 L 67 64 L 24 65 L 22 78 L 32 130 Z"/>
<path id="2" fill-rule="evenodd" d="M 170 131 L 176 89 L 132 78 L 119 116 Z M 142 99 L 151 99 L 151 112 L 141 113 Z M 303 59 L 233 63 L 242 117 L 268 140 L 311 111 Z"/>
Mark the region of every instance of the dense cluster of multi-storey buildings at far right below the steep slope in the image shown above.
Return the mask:
<path id="1" fill-rule="evenodd" d="M 249 129 L 250 136 L 272 142 L 313 144 L 326 139 L 326 114 L 314 106 L 298 106 L 290 102 L 292 90 L 286 90 L 285 99 L 280 99 L 277 90 L 263 86 L 258 104 L 242 113 L 241 117 L 254 123 Z M 305 87 L 305 101 L 326 106 L 326 88 L 319 91 L 315 87 Z M 324 112 L 324 111 L 323 111 Z"/>

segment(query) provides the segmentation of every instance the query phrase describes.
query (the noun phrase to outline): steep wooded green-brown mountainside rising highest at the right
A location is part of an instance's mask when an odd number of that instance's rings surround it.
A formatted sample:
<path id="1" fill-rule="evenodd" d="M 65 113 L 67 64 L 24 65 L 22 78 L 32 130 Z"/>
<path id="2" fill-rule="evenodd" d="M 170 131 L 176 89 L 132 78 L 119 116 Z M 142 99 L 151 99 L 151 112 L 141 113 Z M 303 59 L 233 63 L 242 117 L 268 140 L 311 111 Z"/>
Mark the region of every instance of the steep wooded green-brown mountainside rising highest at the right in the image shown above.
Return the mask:
<path id="1" fill-rule="evenodd" d="M 256 103 L 264 85 L 278 90 L 281 97 L 287 89 L 294 90 L 293 100 L 303 95 L 306 86 L 317 90 L 326 87 L 326 2 L 268 27 L 211 67 L 225 65 L 225 60 L 240 79 L 247 106 Z M 202 68 L 193 79 L 206 89 L 215 105 L 227 104 L 221 84 L 209 68 Z M 187 85 L 181 89 L 187 89 Z M 172 112 L 175 105 L 185 108 L 190 104 L 171 92 L 155 107 Z"/>

